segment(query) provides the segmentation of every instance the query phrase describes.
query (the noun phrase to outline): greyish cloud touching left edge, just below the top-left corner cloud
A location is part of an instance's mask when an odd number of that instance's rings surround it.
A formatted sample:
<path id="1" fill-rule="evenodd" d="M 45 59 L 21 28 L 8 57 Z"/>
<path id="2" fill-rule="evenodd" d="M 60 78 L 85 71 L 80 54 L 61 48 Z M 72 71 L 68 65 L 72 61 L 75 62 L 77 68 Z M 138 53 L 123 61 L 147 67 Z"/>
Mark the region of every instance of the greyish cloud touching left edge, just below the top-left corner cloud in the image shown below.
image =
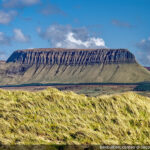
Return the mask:
<path id="1" fill-rule="evenodd" d="M 0 24 L 8 24 L 17 15 L 16 11 L 4 12 L 0 11 Z"/>

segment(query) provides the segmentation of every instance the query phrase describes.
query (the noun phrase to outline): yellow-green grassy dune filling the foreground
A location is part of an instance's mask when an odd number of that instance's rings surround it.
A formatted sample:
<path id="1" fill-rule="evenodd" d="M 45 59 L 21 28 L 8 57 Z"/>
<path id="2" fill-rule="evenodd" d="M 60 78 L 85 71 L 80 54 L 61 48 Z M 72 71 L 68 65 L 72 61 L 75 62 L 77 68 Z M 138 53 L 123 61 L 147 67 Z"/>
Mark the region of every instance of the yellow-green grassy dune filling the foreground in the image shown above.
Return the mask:
<path id="1" fill-rule="evenodd" d="M 0 144 L 150 144 L 150 98 L 0 90 Z"/>

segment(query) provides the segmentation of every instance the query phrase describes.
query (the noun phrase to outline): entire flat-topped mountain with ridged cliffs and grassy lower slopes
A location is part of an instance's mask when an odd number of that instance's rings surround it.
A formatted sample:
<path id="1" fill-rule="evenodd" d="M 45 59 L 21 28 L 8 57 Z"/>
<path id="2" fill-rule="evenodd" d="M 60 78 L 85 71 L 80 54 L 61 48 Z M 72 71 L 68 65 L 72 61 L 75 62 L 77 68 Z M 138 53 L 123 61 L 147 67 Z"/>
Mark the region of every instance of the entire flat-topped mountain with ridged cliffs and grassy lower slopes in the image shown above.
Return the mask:
<path id="1" fill-rule="evenodd" d="M 0 85 L 142 81 L 150 81 L 150 72 L 126 49 L 17 50 L 0 63 Z"/>

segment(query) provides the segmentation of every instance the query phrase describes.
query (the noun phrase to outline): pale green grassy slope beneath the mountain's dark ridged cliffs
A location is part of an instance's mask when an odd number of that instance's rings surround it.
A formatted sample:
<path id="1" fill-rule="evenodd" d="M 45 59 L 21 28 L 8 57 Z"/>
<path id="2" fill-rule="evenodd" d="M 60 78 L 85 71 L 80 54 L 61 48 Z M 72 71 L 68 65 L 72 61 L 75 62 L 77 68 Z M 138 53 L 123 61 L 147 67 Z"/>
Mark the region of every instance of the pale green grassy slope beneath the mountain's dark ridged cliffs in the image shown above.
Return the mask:
<path id="1" fill-rule="evenodd" d="M 24 83 L 135 83 L 150 81 L 150 72 L 137 63 L 108 65 L 32 65 L 24 73 L 19 64 L 0 66 L 0 85 Z M 4 71 L 5 70 L 5 71 Z M 9 71 L 8 71 L 9 70 Z"/>

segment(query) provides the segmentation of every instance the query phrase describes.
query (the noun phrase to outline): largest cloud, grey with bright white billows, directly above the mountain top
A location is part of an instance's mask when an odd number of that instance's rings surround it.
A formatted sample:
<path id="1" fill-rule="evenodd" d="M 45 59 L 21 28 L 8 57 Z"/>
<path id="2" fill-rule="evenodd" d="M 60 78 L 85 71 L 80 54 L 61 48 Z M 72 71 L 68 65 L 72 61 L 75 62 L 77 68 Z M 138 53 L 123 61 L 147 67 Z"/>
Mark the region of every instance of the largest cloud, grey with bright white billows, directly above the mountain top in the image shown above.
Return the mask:
<path id="1" fill-rule="evenodd" d="M 100 37 L 90 36 L 86 28 L 52 25 L 45 32 L 37 28 L 39 35 L 48 40 L 52 47 L 64 48 L 101 48 L 105 42 Z"/>

